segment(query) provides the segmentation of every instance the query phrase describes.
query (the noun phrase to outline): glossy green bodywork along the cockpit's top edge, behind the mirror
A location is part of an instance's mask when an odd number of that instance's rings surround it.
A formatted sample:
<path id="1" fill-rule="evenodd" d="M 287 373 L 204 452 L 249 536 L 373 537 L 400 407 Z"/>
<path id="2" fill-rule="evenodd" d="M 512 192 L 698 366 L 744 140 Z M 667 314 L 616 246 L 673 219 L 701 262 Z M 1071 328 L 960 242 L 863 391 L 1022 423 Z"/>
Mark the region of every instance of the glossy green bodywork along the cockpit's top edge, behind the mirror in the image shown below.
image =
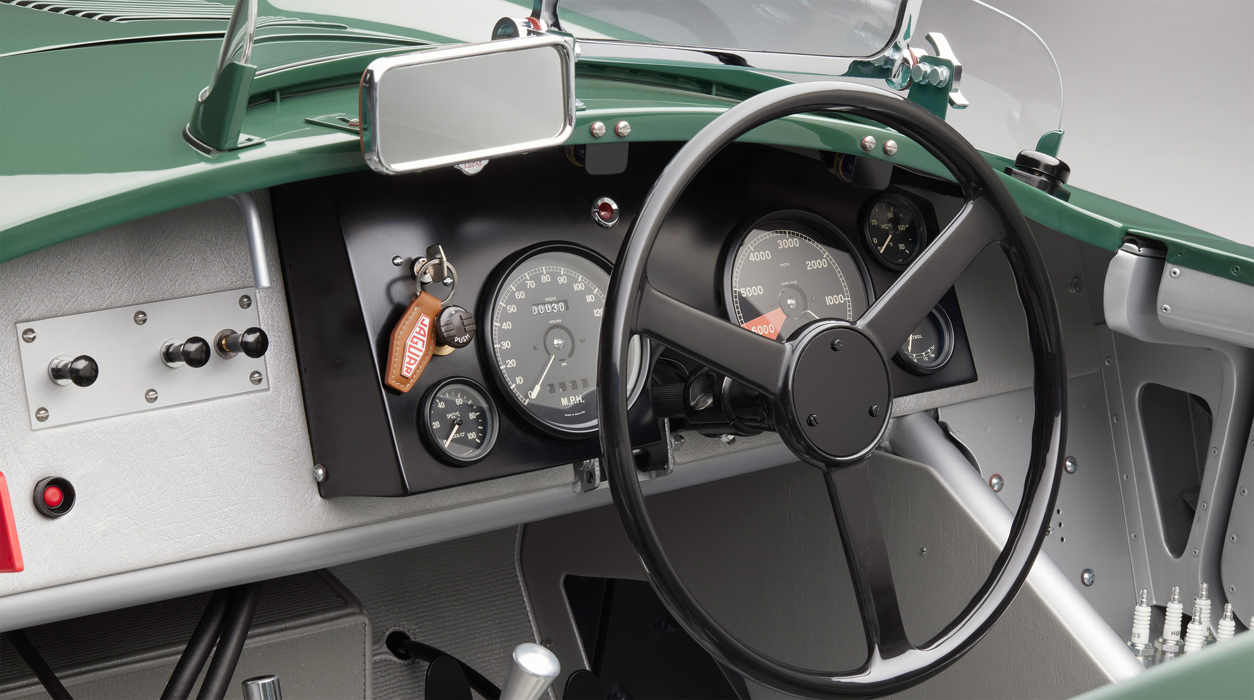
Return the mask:
<path id="1" fill-rule="evenodd" d="M 292 13 L 262 3 L 261 14 Z M 265 143 L 208 157 L 182 130 L 226 21 L 114 24 L 0 4 L 0 261 L 162 211 L 365 169 L 355 134 L 306 118 L 356 114 L 357 80 L 371 60 L 451 39 L 300 19 L 322 24 L 258 31 L 253 49 L 258 72 L 242 130 Z M 64 48 L 75 43 L 92 44 Z M 576 69 L 586 108 L 569 144 L 594 141 L 592 122 L 617 119 L 632 124 L 626 141 L 687 141 L 739 100 L 789 83 L 749 68 L 657 59 L 583 59 Z M 893 138 L 899 151 L 864 153 L 858 143 L 867 134 Z M 917 143 L 855 119 L 796 115 L 742 141 L 856 153 L 949 177 Z M 998 172 L 1009 163 L 986 157 Z M 1002 178 L 1023 213 L 1051 228 L 1106 250 L 1136 232 L 1164 242 L 1172 263 L 1254 285 L 1249 246 L 1075 187 L 1063 202 Z"/>

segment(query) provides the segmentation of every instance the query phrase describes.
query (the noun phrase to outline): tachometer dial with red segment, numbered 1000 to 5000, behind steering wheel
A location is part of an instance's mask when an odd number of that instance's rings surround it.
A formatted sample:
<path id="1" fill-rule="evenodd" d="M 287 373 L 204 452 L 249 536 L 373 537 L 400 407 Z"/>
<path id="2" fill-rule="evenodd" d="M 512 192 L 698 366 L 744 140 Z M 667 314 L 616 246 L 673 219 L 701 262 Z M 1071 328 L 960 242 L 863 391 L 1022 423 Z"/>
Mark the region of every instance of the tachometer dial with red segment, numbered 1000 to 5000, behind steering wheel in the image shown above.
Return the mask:
<path id="1" fill-rule="evenodd" d="M 856 320 L 867 290 L 853 256 L 829 245 L 835 233 L 794 220 L 750 228 L 727 258 L 727 312 L 736 324 L 786 340 L 818 319 Z"/>

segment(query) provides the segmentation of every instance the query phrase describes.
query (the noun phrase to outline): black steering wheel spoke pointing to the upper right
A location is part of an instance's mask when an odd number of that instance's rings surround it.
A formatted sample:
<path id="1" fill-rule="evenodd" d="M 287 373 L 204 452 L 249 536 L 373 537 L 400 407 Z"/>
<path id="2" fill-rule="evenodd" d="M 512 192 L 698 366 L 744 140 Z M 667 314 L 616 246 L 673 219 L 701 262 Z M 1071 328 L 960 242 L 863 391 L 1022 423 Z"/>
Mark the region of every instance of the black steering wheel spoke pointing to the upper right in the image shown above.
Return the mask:
<path id="1" fill-rule="evenodd" d="M 888 287 L 858 320 L 880 349 L 893 353 L 940 301 L 989 243 L 1004 237 L 1006 225 L 983 197 L 967 201 L 958 216 L 919 260 Z"/>

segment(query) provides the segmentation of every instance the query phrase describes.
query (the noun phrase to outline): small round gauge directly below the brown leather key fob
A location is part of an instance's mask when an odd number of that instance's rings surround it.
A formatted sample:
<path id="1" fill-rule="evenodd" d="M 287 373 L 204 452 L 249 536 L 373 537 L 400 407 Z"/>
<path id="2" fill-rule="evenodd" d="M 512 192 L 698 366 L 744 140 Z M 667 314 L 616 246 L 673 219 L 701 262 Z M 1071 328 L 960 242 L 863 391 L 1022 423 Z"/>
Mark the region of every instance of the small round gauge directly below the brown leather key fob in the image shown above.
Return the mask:
<path id="1" fill-rule="evenodd" d="M 450 378 L 426 391 L 419 425 L 436 455 L 465 467 L 487 457 L 497 442 L 497 408 L 479 384 Z"/>

